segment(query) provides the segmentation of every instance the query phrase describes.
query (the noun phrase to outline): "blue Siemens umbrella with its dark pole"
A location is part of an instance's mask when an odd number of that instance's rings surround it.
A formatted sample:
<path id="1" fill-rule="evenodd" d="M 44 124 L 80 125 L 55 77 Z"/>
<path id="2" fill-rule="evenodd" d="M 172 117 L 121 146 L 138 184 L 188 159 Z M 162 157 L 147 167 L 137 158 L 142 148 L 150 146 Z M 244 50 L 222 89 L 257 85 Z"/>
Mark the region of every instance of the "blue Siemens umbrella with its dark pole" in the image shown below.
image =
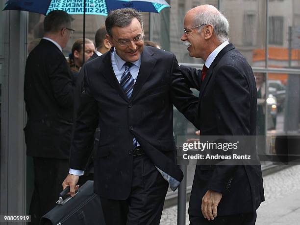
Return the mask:
<path id="1" fill-rule="evenodd" d="M 69 14 L 83 14 L 84 52 L 86 14 L 107 16 L 109 11 L 120 8 L 159 13 L 165 7 L 171 7 L 165 0 L 8 0 L 3 10 L 22 10 L 44 15 L 53 10 L 64 10 Z"/>

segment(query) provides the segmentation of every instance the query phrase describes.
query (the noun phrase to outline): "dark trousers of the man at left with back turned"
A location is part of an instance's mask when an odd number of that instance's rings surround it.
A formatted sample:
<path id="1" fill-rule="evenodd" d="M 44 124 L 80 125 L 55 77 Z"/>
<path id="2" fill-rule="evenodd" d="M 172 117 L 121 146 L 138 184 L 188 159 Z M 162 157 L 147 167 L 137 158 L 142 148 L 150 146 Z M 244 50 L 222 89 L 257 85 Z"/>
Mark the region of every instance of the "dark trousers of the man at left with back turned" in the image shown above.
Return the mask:
<path id="1" fill-rule="evenodd" d="M 33 157 L 33 164 L 34 191 L 29 208 L 30 225 L 39 225 L 41 217 L 56 205 L 58 194 L 63 190 L 62 182 L 69 173 L 69 160 Z"/>

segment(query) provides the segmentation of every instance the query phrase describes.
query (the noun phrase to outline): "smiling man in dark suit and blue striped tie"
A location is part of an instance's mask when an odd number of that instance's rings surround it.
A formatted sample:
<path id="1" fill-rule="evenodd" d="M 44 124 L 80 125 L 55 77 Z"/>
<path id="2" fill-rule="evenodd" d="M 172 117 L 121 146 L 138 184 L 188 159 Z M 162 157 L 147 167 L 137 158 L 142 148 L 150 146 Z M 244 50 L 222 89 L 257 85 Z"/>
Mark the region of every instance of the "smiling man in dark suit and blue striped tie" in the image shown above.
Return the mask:
<path id="1" fill-rule="evenodd" d="M 105 25 L 113 48 L 82 68 L 84 97 L 63 188 L 74 194 L 98 126 L 94 191 L 106 225 L 159 225 L 168 182 L 175 190 L 183 177 L 175 164 L 173 104 L 197 125 L 198 99 L 174 54 L 144 46 L 137 11 L 113 10 Z"/>

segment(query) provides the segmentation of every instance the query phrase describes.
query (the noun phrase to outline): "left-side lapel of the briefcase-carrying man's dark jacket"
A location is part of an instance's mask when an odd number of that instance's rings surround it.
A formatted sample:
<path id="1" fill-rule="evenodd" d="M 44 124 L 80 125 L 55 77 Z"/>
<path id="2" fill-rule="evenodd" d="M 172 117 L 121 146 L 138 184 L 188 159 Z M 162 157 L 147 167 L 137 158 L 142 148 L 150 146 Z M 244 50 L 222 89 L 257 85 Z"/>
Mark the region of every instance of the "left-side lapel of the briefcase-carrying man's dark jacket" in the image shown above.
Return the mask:
<path id="1" fill-rule="evenodd" d="M 129 101 L 126 94 L 124 93 L 119 81 L 117 80 L 116 74 L 111 64 L 111 52 L 113 48 L 109 52 L 107 52 L 103 58 L 103 63 L 101 64 L 99 71 L 108 81 L 108 83 L 115 89 L 118 90 L 120 96 L 124 98 L 125 101 Z"/>

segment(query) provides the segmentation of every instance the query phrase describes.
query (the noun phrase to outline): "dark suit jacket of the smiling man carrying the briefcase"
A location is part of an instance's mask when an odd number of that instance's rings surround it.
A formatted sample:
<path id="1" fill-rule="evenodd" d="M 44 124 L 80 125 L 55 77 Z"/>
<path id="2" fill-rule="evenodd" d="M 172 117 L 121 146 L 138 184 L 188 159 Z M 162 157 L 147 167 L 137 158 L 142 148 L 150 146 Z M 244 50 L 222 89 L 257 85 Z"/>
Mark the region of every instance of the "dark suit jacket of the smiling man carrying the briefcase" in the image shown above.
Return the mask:
<path id="1" fill-rule="evenodd" d="M 71 147 L 70 167 L 83 170 L 95 128 L 95 192 L 125 200 L 131 190 L 133 136 L 153 163 L 176 180 L 173 103 L 197 125 L 198 98 L 184 83 L 175 55 L 144 47 L 139 74 L 128 100 L 112 65 L 111 51 L 84 65 L 84 96 L 80 98 Z M 88 97 L 87 97 L 88 95 Z M 145 171 L 144 173 L 147 173 Z"/>

